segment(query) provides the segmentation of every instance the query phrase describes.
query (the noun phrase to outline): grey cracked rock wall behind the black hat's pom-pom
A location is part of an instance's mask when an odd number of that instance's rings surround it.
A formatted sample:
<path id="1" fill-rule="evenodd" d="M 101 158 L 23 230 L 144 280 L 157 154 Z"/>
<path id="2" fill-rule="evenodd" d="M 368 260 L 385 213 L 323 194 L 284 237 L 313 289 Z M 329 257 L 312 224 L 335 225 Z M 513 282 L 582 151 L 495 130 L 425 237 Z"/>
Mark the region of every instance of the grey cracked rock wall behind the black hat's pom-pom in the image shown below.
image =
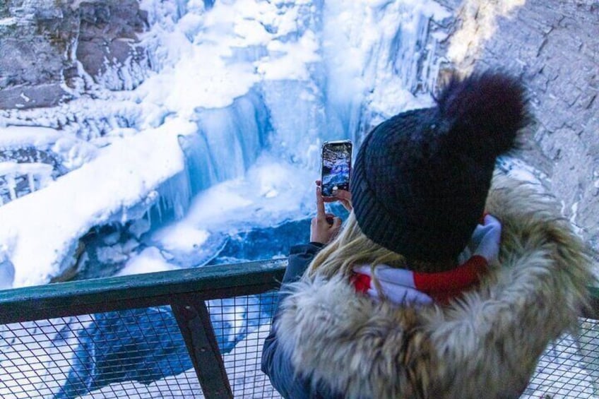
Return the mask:
<path id="1" fill-rule="evenodd" d="M 599 1 L 441 2 L 458 16 L 446 43 L 458 70 L 499 66 L 528 85 L 535 124 L 521 156 L 599 249 Z"/>

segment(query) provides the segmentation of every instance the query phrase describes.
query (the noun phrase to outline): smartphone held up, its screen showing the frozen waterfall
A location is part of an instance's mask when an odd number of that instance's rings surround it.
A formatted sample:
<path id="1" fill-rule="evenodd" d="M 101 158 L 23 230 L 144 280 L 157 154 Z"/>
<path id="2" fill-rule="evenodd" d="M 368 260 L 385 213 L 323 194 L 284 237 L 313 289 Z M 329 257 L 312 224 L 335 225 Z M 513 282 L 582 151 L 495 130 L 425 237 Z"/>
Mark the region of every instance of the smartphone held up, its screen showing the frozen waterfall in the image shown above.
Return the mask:
<path id="1" fill-rule="evenodd" d="M 326 141 L 322 145 L 321 170 L 321 192 L 323 196 L 333 196 L 334 190 L 350 191 L 352 141 Z"/>

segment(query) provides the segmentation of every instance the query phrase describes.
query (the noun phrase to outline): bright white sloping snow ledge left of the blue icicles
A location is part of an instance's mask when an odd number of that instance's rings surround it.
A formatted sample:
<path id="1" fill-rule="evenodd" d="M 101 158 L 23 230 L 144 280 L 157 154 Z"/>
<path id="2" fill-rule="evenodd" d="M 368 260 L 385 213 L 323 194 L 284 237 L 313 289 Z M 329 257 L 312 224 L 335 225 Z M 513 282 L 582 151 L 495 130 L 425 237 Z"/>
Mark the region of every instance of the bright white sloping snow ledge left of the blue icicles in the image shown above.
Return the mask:
<path id="1" fill-rule="evenodd" d="M 2 206 L 0 242 L 15 242 L 4 253 L 15 267 L 13 286 L 40 284 L 58 275 L 76 249 L 73 237 L 118 217 L 181 171 L 177 133 L 194 129 L 174 120 L 122 138 L 100 149 L 93 162 Z"/>

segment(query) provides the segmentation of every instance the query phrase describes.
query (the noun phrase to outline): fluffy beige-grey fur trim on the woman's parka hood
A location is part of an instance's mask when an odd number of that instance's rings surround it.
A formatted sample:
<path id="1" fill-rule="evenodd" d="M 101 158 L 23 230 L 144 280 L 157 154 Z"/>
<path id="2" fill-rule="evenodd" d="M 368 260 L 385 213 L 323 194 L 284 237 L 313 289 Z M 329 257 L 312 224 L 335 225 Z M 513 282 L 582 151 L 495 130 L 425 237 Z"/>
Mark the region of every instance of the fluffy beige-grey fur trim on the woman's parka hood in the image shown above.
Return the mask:
<path id="1" fill-rule="evenodd" d="M 591 257 L 538 186 L 496 174 L 499 264 L 449 306 L 376 303 L 302 278 L 276 321 L 297 373 L 348 398 L 518 398 L 550 341 L 576 325 Z"/>

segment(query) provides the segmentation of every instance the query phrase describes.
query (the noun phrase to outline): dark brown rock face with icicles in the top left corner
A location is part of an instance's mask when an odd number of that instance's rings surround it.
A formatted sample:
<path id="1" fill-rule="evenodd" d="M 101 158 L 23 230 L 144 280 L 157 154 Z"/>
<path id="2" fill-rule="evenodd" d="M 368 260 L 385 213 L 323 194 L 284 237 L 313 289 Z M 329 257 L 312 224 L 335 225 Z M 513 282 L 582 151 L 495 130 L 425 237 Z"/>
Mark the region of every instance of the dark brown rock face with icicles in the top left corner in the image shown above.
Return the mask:
<path id="1" fill-rule="evenodd" d="M 0 108 L 57 105 L 146 61 L 136 0 L 8 0 L 0 4 Z"/>

